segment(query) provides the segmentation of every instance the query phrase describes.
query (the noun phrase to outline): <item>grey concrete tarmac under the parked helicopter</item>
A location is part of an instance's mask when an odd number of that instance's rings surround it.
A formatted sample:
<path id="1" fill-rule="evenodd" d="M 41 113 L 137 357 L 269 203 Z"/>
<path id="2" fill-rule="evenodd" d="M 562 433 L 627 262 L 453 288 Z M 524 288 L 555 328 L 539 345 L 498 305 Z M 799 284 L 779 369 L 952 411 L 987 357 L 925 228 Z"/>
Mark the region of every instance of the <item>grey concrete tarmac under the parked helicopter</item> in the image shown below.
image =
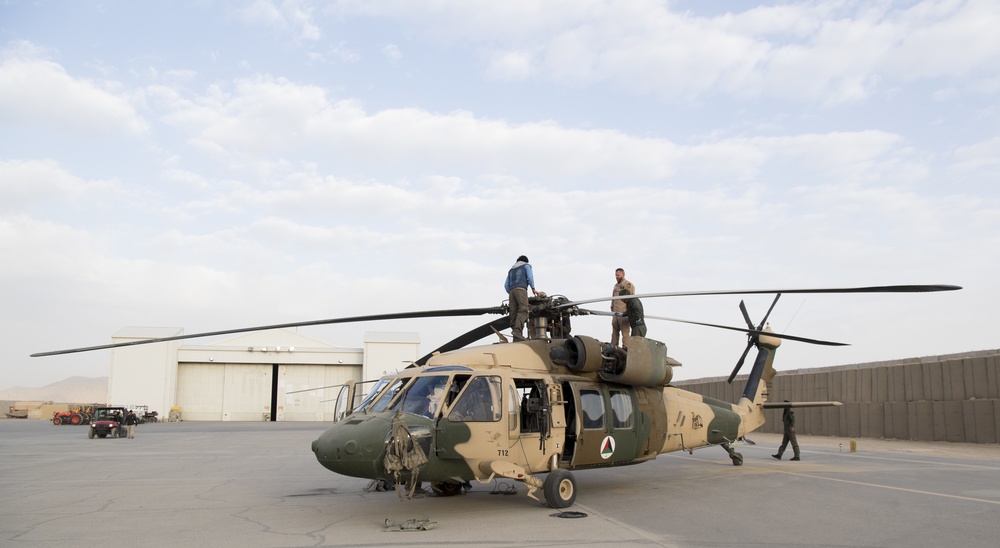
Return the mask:
<path id="1" fill-rule="evenodd" d="M 463 496 L 366 492 L 322 468 L 323 423 L 140 425 L 135 439 L 0 420 L 0 546 L 996 546 L 996 445 L 780 436 L 576 472 L 571 516 L 523 484 Z M 516 494 L 507 493 L 514 489 Z M 539 495 L 541 498 L 541 495 Z M 429 520 L 427 531 L 390 532 Z"/>

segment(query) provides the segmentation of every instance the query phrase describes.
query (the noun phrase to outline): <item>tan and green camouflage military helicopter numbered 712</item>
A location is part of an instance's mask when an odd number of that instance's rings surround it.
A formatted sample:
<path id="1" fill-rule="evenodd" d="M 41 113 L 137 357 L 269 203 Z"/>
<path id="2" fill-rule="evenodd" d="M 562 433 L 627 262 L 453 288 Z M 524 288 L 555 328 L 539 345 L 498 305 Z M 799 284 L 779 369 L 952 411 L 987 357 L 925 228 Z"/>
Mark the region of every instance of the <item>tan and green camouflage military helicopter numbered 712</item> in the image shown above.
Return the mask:
<path id="1" fill-rule="evenodd" d="M 410 366 L 390 373 L 362 392 L 366 383 L 338 388 L 334 422 L 311 444 L 320 465 L 337 474 L 395 485 L 400 498 L 422 483 L 439 496 L 460 495 L 476 481 L 521 482 L 527 496 L 553 508 L 568 508 L 578 494 L 575 471 L 633 465 L 676 451 L 710 446 L 726 451 L 734 466 L 743 456 L 733 445 L 765 422 L 764 410 L 839 405 L 839 402 L 768 400 L 778 347 L 783 340 L 843 346 L 774 332 L 767 319 L 782 294 L 909 293 L 961 289 L 954 285 L 893 285 L 826 289 L 688 291 L 619 295 L 571 301 L 539 293 L 528 300 L 528 337 L 509 341 L 506 304 L 499 307 L 431 310 L 333 318 L 272 326 L 178 335 L 32 354 L 33 357 L 150 344 L 247 331 L 384 319 L 500 314 Z M 572 333 L 572 318 L 610 315 L 582 305 L 613 299 L 690 295 L 774 294 L 770 308 L 746 327 L 677 318 L 673 322 L 740 331 L 747 345 L 728 377 L 732 383 L 750 350 L 757 355 L 739 400 L 725 402 L 671 384 L 681 363 L 666 344 L 632 336 L 622 346 Z M 497 342 L 469 346 L 488 336 Z M 544 476 L 544 477 L 542 477 Z"/>

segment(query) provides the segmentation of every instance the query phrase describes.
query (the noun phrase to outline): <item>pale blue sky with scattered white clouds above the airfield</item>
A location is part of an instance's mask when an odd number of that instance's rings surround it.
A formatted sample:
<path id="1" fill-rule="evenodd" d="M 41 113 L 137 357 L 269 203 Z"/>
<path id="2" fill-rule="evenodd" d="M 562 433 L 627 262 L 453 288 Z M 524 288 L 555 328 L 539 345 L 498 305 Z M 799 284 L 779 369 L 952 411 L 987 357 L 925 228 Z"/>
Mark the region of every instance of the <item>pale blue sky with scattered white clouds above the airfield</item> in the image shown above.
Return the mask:
<path id="1" fill-rule="evenodd" d="M 997 28 L 993 0 L 0 0 L 0 389 L 107 375 L 29 354 L 126 326 L 497 306 L 521 254 L 571 300 L 616 267 L 640 294 L 964 288 L 784 295 L 776 331 L 850 346 L 779 371 L 998 348 Z M 741 326 L 740 298 L 643 304 Z M 299 333 L 430 351 L 489 319 Z M 648 336 L 676 379 L 746 344 Z"/>

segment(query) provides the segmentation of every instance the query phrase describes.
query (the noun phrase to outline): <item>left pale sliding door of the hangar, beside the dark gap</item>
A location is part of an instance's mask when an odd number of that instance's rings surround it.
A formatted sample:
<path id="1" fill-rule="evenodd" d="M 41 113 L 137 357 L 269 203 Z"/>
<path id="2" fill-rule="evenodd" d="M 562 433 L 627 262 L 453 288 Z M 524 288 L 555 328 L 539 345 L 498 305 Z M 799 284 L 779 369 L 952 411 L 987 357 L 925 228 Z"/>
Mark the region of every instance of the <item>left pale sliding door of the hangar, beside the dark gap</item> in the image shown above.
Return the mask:
<path id="1" fill-rule="evenodd" d="M 180 364 L 177 405 L 184 420 L 261 421 L 271 414 L 272 365 Z"/>

